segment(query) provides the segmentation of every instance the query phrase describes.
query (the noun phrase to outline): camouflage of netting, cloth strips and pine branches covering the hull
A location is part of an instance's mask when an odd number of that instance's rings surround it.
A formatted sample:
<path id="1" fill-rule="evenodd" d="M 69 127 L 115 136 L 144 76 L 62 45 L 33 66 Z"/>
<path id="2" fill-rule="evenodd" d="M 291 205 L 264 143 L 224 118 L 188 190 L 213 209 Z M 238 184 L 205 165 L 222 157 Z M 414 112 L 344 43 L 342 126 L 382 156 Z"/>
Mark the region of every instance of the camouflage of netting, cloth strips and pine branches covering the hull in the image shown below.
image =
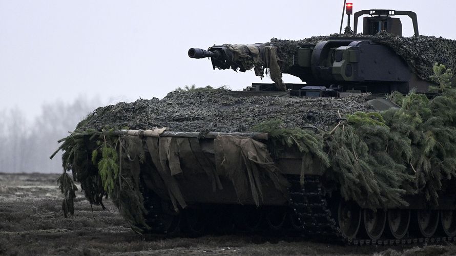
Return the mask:
<path id="1" fill-rule="evenodd" d="M 272 181 L 279 191 L 286 188 L 271 156 L 289 148 L 302 153 L 303 171 L 315 166 L 313 162 L 321 166 L 347 200 L 371 207 L 400 207 L 406 205 L 404 195 L 420 193 L 429 204 L 437 205 L 441 191 L 454 193 L 456 187 L 452 182 L 456 178 L 456 90 L 451 89 L 451 74 L 443 66 L 434 66 L 433 72 L 432 79 L 440 83 L 439 95 L 429 100 L 413 92 L 393 94 L 391 99 L 400 108 L 380 113 L 370 112 L 366 95 L 239 97 L 223 89 L 178 90 L 162 100 L 99 108 L 59 148 L 64 150 L 65 173 L 60 179 L 64 211 L 74 211 L 75 186 L 67 171 L 81 183 L 90 203 L 102 204 L 102 198 L 110 196 L 138 231 L 147 228 L 140 180 L 149 180 L 148 186 L 169 198 L 177 210 L 186 204 L 174 177 L 202 169 L 213 189 L 221 188 L 218 179 L 225 176 L 240 202 L 253 198 L 258 204 L 265 182 Z M 216 157 L 209 160 L 198 149 L 198 139 L 140 139 L 107 129 L 154 126 L 174 131 L 258 131 L 268 133 L 270 139 L 266 147 L 253 139 L 216 138 Z M 230 144 L 231 149 L 225 148 Z M 244 147 L 241 144 L 250 149 L 239 150 Z M 142 169 L 150 177 L 144 177 Z"/>

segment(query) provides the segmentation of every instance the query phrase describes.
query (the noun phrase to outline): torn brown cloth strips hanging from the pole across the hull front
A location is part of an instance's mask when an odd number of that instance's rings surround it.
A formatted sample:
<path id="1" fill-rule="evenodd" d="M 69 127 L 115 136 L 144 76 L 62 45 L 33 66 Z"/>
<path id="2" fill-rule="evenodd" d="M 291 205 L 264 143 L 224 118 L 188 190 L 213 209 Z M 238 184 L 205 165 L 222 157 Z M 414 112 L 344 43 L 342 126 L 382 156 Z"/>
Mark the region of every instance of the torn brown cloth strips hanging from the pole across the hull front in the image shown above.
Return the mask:
<path id="1" fill-rule="evenodd" d="M 152 159 L 151 177 L 154 179 L 149 180 L 147 185 L 157 190 L 158 195 L 166 195 L 176 211 L 186 207 L 185 196 L 177 181 L 177 177 L 182 175 L 204 171 L 212 183 L 213 191 L 223 189 L 219 176 L 227 177 L 234 185 L 239 202 L 252 197 L 256 205 L 263 199 L 262 186 L 267 180 L 271 180 L 284 194 L 288 186 L 266 145 L 252 138 L 218 136 L 214 139 L 215 166 L 196 138 L 124 138 L 127 141 L 126 161 L 132 161 L 130 171 L 134 179 L 140 177 L 139 159 L 144 159 L 144 146 L 147 146 Z"/>

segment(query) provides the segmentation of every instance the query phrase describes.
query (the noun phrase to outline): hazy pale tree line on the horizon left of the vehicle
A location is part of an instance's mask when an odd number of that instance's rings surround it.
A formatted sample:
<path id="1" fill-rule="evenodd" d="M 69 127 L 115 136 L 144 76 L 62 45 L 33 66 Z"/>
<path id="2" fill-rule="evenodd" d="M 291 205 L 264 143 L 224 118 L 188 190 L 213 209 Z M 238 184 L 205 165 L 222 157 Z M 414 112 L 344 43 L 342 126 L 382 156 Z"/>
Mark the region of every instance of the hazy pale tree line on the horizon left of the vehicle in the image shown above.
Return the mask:
<path id="1" fill-rule="evenodd" d="M 100 106 L 98 98 L 79 96 L 72 103 L 56 101 L 42 105 L 42 112 L 32 122 L 19 108 L 0 110 L 0 172 L 61 172 L 61 154 L 57 140 L 68 136 L 76 124 Z"/>

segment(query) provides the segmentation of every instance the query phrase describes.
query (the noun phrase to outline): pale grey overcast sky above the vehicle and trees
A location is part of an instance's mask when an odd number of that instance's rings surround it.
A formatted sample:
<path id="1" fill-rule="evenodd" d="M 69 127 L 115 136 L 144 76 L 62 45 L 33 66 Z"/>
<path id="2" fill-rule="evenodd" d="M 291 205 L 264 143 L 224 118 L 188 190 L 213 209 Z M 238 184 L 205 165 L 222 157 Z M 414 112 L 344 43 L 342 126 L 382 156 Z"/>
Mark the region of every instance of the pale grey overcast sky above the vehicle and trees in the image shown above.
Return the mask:
<path id="1" fill-rule="evenodd" d="M 456 37 L 456 1 L 348 2 L 354 12 L 411 10 L 418 14 L 420 34 Z M 44 102 L 71 102 L 81 94 L 108 103 L 162 98 L 191 84 L 240 90 L 260 79 L 253 72 L 214 71 L 210 60 L 190 59 L 188 49 L 337 33 L 342 4 L 0 0 L 0 110 L 18 105 L 33 118 Z M 411 20 L 402 23 L 404 36 L 411 36 Z M 291 76 L 284 81 L 299 82 Z"/>

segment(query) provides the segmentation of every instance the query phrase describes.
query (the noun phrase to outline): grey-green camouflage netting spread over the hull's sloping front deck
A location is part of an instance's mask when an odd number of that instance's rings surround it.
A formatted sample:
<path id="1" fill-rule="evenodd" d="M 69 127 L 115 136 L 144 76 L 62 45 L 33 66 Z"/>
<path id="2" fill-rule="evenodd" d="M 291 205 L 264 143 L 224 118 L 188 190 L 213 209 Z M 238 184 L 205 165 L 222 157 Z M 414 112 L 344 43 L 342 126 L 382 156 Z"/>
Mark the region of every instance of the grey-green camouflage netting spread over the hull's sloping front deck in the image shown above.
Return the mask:
<path id="1" fill-rule="evenodd" d="M 77 129 L 146 130 L 157 126 L 181 132 L 244 132 L 265 119 L 280 118 L 287 127 L 310 125 L 327 131 L 337 121 L 338 111 L 342 115 L 372 111 L 367 97 L 252 97 L 236 96 L 224 89 L 176 90 L 161 100 L 139 99 L 98 108 Z"/>

